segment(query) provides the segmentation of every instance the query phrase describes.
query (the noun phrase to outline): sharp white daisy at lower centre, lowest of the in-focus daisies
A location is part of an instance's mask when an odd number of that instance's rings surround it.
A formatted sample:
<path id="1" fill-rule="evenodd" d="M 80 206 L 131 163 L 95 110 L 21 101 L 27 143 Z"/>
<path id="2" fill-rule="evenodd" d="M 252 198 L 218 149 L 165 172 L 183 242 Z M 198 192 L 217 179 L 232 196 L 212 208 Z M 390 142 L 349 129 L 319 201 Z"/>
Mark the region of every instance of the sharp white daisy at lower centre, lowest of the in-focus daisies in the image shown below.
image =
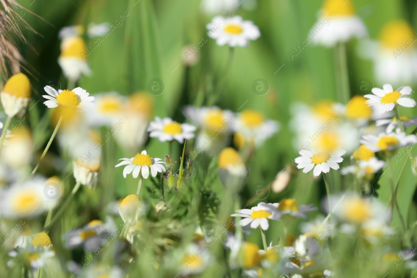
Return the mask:
<path id="1" fill-rule="evenodd" d="M 256 207 L 251 209 L 244 208 L 243 210 L 236 210 L 237 213 L 231 216 L 239 216 L 243 219 L 240 221 L 242 226 L 251 225 L 251 228 L 256 229 L 261 226 L 262 230 L 268 230 L 268 219 L 279 220 L 281 213 L 274 209 L 274 206 L 269 203 L 259 203 Z"/>

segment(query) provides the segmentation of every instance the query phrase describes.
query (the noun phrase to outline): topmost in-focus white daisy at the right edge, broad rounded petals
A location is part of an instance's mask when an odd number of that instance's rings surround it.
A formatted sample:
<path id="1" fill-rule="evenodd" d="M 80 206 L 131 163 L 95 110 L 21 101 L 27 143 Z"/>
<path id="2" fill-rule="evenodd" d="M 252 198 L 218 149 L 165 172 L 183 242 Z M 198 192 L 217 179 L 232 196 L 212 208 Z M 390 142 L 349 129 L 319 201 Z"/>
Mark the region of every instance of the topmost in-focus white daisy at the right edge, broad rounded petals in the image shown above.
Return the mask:
<path id="1" fill-rule="evenodd" d="M 391 111 L 395 105 L 401 105 L 404 107 L 416 106 L 415 100 L 407 97 L 413 92 L 411 87 L 404 86 L 394 91 L 390 84 L 384 84 L 383 89 L 372 88 L 372 94 L 364 95 L 365 98 L 369 98 L 367 103 L 374 107 L 379 113 L 385 111 Z"/>

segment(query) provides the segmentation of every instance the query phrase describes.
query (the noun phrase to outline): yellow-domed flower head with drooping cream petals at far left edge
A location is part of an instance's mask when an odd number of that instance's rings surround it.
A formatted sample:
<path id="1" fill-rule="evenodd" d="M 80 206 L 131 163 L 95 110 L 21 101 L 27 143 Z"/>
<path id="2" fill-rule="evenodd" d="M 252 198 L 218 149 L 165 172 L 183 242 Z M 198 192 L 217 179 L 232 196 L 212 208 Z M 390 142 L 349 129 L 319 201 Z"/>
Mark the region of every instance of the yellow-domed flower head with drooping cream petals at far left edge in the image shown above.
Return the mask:
<path id="1" fill-rule="evenodd" d="M 13 75 L 7 80 L 0 93 L 3 109 L 9 117 L 22 115 L 30 101 L 31 85 L 23 73 Z"/>

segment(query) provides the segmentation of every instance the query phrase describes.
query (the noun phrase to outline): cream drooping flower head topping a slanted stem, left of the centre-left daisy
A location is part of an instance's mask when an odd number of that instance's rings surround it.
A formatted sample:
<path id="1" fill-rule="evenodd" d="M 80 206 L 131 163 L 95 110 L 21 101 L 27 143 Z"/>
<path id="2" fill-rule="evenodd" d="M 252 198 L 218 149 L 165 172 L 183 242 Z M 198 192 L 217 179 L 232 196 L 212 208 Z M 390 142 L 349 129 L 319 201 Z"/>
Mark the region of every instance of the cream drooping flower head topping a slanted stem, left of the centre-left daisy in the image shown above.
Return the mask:
<path id="1" fill-rule="evenodd" d="M 92 161 L 90 161 L 92 160 Z M 82 161 L 78 159 L 73 162 L 74 178 L 77 183 L 95 188 L 100 175 L 100 158 Z"/>

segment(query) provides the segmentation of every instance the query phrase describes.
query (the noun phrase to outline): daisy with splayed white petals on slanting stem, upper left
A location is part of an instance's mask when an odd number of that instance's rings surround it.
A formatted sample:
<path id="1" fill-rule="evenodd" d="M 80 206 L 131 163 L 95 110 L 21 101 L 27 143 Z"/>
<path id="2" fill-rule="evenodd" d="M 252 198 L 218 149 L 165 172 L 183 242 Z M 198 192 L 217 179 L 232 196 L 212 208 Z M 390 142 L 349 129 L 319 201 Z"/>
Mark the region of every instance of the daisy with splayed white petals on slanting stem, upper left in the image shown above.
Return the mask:
<path id="1" fill-rule="evenodd" d="M 81 87 L 77 87 L 73 90 L 58 90 L 56 91 L 51 86 L 45 86 L 43 88 L 48 95 L 43 95 L 43 98 L 47 100 L 43 103 L 48 108 L 55 108 L 58 105 L 66 105 L 76 108 L 88 110 L 93 108 L 93 96 L 89 96 Z"/>

